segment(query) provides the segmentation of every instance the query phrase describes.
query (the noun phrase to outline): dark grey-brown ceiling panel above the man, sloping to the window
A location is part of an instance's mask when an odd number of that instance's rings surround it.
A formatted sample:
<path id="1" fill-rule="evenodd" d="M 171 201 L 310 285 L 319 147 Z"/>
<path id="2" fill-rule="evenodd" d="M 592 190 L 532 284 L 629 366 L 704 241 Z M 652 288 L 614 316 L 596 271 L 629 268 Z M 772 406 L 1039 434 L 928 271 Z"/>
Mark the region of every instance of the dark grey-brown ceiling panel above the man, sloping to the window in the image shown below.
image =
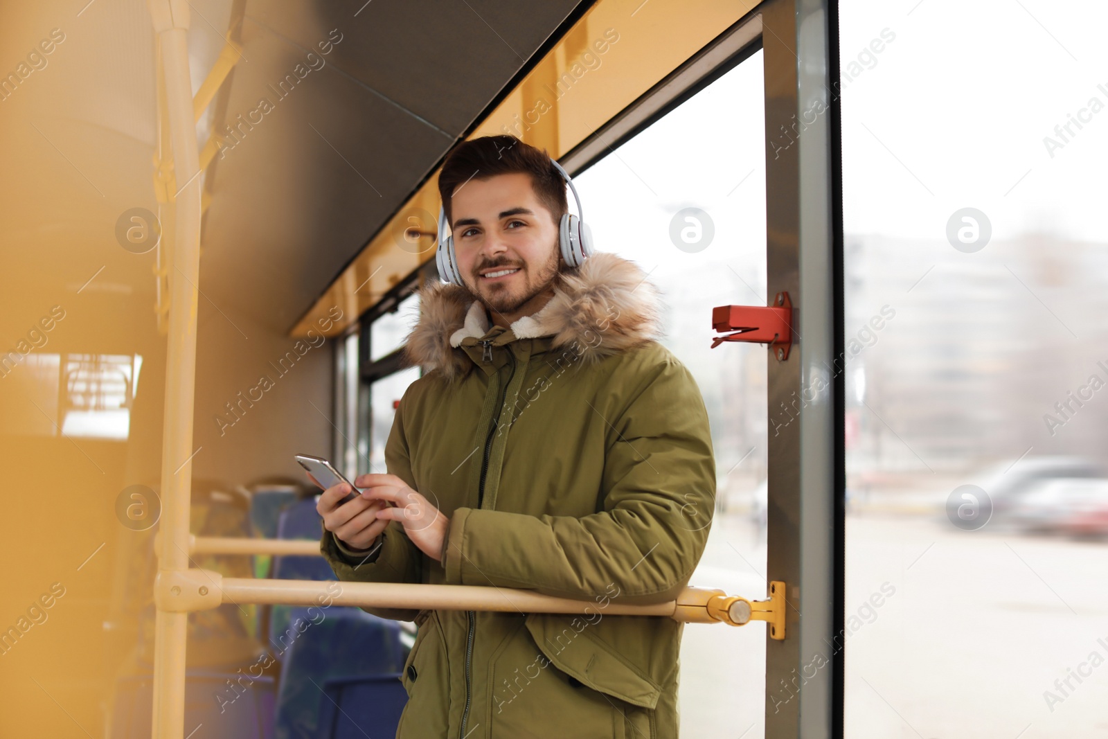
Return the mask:
<path id="1" fill-rule="evenodd" d="M 249 0 L 215 124 L 237 143 L 207 174 L 205 295 L 289 329 L 577 4 Z"/>

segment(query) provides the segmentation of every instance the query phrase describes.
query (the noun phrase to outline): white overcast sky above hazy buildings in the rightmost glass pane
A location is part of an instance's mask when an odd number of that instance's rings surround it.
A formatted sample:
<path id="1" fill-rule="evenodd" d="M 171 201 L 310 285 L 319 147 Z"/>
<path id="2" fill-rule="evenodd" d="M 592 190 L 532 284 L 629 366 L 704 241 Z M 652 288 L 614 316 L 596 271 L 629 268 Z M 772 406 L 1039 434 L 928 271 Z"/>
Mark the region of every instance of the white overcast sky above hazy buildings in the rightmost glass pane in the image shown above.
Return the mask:
<path id="1" fill-rule="evenodd" d="M 849 0 L 841 13 L 844 65 L 895 34 L 843 94 L 848 233 L 941 237 L 970 206 L 994 238 L 1108 242 L 1108 3 Z M 1060 142 L 1054 127 L 1091 97 L 1105 110 Z M 1053 157 L 1048 135 L 1064 144 Z"/>

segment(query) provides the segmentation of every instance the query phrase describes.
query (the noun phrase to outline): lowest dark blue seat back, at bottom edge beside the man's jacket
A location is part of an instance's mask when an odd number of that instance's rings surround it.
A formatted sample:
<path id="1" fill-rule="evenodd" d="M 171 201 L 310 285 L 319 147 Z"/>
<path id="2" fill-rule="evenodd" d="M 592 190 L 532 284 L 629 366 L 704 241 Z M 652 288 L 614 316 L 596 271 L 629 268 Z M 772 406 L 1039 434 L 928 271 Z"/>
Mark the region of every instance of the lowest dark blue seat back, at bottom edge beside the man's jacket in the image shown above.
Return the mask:
<path id="1" fill-rule="evenodd" d="M 408 692 L 400 673 L 376 677 L 335 678 L 324 685 L 319 739 L 394 737 Z"/>

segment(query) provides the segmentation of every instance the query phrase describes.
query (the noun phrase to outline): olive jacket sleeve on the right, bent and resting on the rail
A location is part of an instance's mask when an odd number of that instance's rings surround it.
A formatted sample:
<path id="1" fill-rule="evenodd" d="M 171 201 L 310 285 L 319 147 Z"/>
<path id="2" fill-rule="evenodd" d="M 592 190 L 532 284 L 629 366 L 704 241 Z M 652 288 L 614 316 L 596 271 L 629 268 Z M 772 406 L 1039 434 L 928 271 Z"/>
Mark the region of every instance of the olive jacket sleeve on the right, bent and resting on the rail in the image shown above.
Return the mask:
<path id="1" fill-rule="evenodd" d="M 613 585 L 628 603 L 674 599 L 704 553 L 716 494 L 708 414 L 676 359 L 652 368 L 608 423 L 603 511 L 532 516 L 458 509 L 447 582 L 592 599 Z"/>

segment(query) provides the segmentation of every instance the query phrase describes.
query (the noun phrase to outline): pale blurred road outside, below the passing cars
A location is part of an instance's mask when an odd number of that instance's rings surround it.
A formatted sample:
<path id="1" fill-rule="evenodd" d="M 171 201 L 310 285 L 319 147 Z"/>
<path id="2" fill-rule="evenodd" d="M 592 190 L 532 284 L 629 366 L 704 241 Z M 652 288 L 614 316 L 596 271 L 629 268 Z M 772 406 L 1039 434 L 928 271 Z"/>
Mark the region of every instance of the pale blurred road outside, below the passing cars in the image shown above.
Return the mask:
<path id="1" fill-rule="evenodd" d="M 848 737 L 1108 735 L 1108 545 L 962 531 L 937 506 L 855 513 L 847 536 Z M 717 516 L 691 584 L 763 597 L 763 535 Z M 765 644 L 761 624 L 685 627 L 684 736 L 763 736 Z"/>

